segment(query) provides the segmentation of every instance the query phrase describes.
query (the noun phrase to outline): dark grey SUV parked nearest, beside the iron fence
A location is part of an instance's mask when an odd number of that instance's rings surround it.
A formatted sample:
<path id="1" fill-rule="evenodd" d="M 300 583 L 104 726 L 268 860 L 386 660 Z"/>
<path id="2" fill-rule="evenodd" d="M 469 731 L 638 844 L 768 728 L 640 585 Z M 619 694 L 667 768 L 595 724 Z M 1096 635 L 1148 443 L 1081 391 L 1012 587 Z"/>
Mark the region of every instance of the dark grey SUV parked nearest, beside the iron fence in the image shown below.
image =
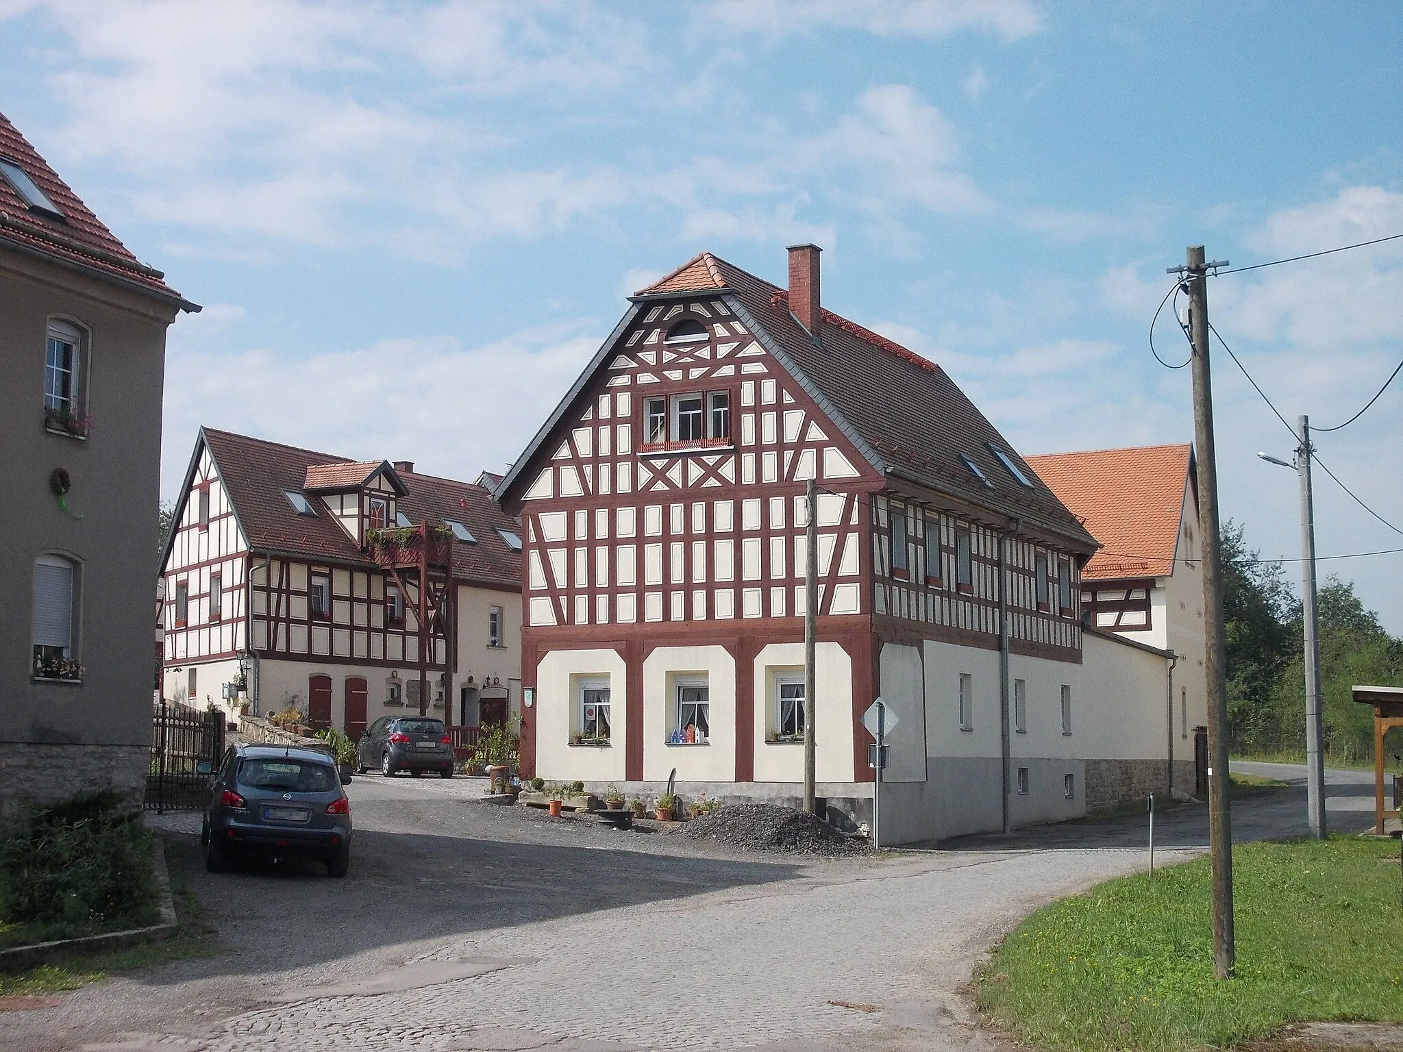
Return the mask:
<path id="1" fill-rule="evenodd" d="M 208 773 L 209 802 L 199 835 L 206 870 L 220 872 L 241 856 L 297 856 L 324 861 L 333 877 L 347 875 L 351 804 L 327 753 L 236 745 L 219 770 Z"/>

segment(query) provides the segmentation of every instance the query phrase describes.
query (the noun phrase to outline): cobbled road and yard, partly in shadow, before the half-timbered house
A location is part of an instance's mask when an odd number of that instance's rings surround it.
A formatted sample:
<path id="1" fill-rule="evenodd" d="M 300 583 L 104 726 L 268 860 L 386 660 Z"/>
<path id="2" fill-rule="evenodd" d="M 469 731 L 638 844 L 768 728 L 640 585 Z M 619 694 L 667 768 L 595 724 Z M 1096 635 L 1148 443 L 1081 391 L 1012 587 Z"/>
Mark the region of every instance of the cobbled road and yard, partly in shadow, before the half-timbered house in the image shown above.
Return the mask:
<path id="1" fill-rule="evenodd" d="M 476 804 L 467 780 L 349 791 L 344 881 L 205 874 L 164 822 L 177 885 L 226 952 L 6 1013 L 0 1048 L 1003 1048 L 961 993 L 989 944 L 1145 864 L 1138 849 L 746 857 Z"/>

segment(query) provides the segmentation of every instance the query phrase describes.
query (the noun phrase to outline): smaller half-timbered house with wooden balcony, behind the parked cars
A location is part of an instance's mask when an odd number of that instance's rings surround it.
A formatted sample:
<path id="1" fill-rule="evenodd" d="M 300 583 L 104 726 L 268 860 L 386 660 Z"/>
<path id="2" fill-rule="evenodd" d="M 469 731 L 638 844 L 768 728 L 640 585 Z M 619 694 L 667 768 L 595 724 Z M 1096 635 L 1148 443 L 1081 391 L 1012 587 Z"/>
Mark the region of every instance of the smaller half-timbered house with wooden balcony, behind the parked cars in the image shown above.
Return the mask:
<path id="1" fill-rule="evenodd" d="M 481 485 L 201 429 L 163 558 L 164 693 L 405 711 L 470 739 L 519 710 L 519 526 Z"/>

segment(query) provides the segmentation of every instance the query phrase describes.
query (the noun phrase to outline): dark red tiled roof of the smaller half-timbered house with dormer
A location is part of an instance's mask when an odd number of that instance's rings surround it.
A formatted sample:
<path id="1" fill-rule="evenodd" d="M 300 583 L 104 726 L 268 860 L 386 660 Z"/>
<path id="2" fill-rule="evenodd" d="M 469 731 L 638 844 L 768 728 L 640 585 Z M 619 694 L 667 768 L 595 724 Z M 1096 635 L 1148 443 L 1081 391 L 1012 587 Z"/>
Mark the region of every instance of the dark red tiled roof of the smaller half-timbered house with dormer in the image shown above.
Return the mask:
<path id="1" fill-rule="evenodd" d="M 283 490 L 302 491 L 309 468 L 344 470 L 348 477 L 361 471 L 359 478 L 365 480 L 373 473 L 363 470 L 368 464 L 379 468 L 384 461 L 354 461 L 213 428 L 203 428 L 201 438 L 215 459 L 250 548 L 375 565 L 325 508 L 318 506 L 318 499 L 311 501 L 317 508 L 314 518 L 297 515 Z M 455 519 L 477 540 L 453 544 L 455 576 L 469 584 L 521 588 L 521 554 L 498 533 L 498 529 L 518 533 L 521 527 L 487 490 L 417 471 L 396 474 L 405 487 L 398 509 L 410 522 Z"/>

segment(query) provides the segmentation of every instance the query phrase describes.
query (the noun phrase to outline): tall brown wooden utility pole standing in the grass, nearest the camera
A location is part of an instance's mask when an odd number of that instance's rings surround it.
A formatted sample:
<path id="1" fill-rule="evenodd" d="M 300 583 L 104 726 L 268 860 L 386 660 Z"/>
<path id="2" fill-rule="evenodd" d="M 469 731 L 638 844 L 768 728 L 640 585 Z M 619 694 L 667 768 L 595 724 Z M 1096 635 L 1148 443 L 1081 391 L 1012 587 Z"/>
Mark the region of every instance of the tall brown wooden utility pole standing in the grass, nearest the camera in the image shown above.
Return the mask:
<path id="1" fill-rule="evenodd" d="M 1194 345 L 1194 443 L 1198 446 L 1198 532 L 1202 534 L 1204 631 L 1208 677 L 1208 850 L 1212 858 L 1214 975 L 1232 978 L 1236 964 L 1232 909 L 1232 819 L 1228 809 L 1228 647 L 1223 640 L 1222 550 L 1218 520 L 1218 454 L 1214 446 L 1214 390 L 1208 367 L 1208 269 L 1204 247 L 1191 245 L 1186 267 L 1170 268 L 1188 285 L 1190 339 Z"/>

